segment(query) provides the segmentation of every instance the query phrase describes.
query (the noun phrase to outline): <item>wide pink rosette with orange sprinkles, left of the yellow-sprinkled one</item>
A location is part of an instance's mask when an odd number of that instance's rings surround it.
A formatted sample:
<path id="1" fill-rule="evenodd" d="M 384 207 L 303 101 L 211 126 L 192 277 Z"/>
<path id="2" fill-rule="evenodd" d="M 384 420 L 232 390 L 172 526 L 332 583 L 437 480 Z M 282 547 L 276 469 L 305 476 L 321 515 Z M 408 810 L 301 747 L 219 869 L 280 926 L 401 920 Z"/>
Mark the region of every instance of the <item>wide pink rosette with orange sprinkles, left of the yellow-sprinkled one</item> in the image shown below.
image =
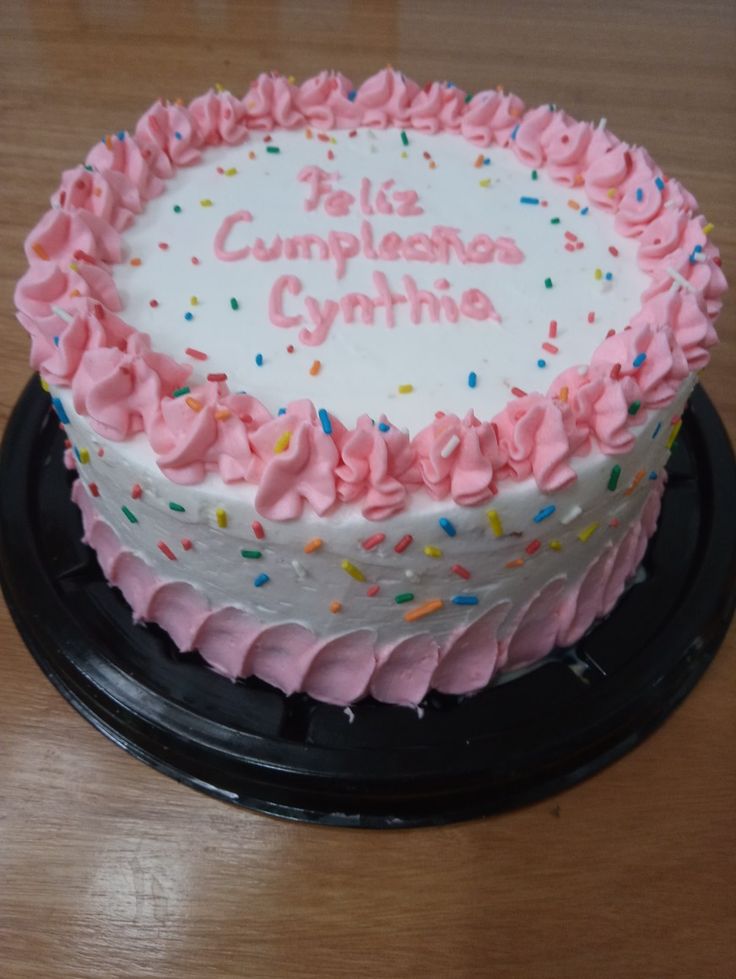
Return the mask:
<path id="1" fill-rule="evenodd" d="M 256 398 L 228 394 L 225 384 L 208 381 L 186 397 L 164 398 L 150 432 L 156 463 L 180 485 L 199 483 L 207 472 L 226 483 L 255 482 L 260 466 L 248 432 L 270 420 Z"/>

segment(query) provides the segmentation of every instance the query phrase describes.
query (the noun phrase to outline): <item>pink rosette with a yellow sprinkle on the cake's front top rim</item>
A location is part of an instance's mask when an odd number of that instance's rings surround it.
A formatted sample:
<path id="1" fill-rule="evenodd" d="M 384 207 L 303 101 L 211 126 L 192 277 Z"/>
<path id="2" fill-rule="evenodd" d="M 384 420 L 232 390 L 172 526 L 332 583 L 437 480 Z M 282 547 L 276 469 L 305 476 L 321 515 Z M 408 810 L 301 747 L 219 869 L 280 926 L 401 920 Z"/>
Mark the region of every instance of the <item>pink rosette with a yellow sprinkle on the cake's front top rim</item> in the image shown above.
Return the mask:
<path id="1" fill-rule="evenodd" d="M 294 401 L 250 436 L 260 460 L 256 510 L 269 520 L 294 520 L 304 503 L 326 513 L 337 498 L 337 447 L 311 401 Z"/>

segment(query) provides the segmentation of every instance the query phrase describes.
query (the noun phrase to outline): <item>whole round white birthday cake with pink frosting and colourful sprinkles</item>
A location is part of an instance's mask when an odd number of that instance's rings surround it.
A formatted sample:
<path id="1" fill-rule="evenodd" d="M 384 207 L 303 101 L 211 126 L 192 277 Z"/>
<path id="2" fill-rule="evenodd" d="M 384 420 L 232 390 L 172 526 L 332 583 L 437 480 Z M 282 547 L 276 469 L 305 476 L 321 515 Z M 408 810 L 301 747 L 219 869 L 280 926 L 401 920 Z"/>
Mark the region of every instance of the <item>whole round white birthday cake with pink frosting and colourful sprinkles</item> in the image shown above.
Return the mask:
<path id="1" fill-rule="evenodd" d="M 155 103 L 51 203 L 18 316 L 136 620 L 230 678 L 416 705 L 613 609 L 726 284 L 605 120 L 264 74 Z"/>

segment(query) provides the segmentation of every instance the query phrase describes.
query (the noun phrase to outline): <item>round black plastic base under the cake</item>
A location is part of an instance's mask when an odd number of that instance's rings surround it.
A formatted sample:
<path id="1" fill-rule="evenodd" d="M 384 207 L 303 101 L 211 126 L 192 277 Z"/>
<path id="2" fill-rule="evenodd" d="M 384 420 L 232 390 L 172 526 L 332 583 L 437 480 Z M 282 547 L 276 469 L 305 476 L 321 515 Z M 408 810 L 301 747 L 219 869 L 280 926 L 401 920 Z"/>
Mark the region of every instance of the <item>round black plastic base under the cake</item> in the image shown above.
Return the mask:
<path id="1" fill-rule="evenodd" d="M 158 771 L 260 812 L 341 826 L 437 825 L 573 785 L 683 700 L 728 628 L 736 464 L 697 389 L 638 581 L 576 647 L 471 697 L 351 709 L 231 683 L 134 626 L 80 541 L 63 434 L 37 381 L 8 423 L 0 577 L 39 666 L 95 727 Z"/>

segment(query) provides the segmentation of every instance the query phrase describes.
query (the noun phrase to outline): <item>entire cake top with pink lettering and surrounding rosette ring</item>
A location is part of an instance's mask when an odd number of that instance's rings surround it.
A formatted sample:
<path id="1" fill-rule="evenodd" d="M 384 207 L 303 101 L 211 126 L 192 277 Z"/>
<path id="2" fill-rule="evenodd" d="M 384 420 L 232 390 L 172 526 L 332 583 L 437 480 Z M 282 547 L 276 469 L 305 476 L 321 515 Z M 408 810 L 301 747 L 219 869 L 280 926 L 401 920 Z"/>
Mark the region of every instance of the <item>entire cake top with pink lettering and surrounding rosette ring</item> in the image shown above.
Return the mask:
<path id="1" fill-rule="evenodd" d="M 629 451 L 715 342 L 710 230 L 604 121 L 270 74 L 157 102 L 65 172 L 16 303 L 42 377 L 170 479 L 381 519 Z"/>

